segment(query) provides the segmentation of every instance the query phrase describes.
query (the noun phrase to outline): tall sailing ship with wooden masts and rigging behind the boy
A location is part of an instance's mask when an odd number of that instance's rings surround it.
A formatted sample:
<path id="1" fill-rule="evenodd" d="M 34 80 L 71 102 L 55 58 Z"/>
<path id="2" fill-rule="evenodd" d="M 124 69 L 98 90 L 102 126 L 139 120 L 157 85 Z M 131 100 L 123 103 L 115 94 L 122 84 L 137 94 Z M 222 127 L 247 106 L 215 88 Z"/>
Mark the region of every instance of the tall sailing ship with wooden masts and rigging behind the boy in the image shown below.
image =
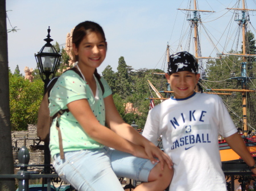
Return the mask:
<path id="1" fill-rule="evenodd" d="M 192 9 L 192 5 L 193 4 L 193 9 Z M 199 81 L 200 87 L 199 87 L 199 91 L 206 93 L 206 94 L 218 94 L 222 97 L 222 99 L 224 100 L 224 104 L 226 105 L 226 107 L 228 108 L 230 114 L 233 114 L 233 116 L 236 116 L 238 119 L 236 119 L 235 124 L 237 125 L 238 128 L 241 128 L 241 130 L 243 131 L 243 139 L 246 143 L 246 146 L 248 148 L 248 150 L 250 151 L 251 155 L 253 157 L 256 157 L 256 137 L 252 136 L 253 133 L 255 133 L 255 128 L 256 126 L 250 125 L 250 123 L 247 121 L 247 109 L 248 109 L 248 104 L 251 103 L 249 102 L 249 93 L 254 94 L 256 91 L 255 90 L 250 90 L 250 87 L 256 87 L 253 84 L 253 79 L 255 79 L 254 74 L 253 74 L 253 59 L 251 58 L 255 58 L 256 54 L 255 52 L 252 53 L 250 51 L 250 46 L 249 43 L 247 42 L 249 35 L 253 34 L 251 31 L 255 32 L 255 29 L 253 28 L 253 26 L 251 26 L 251 22 L 250 22 L 250 14 L 249 12 L 251 11 L 256 11 L 255 9 L 247 9 L 246 7 L 246 1 L 245 0 L 240 0 L 237 1 L 236 4 L 232 7 L 232 8 L 226 8 L 226 11 L 232 11 L 233 15 L 234 15 L 234 21 L 236 21 L 238 23 L 237 27 L 237 37 L 241 37 L 241 40 L 237 41 L 237 45 L 236 45 L 236 49 L 232 49 L 229 53 L 226 52 L 226 49 L 228 47 L 228 45 L 224 45 L 222 47 L 224 47 L 223 51 L 220 51 L 217 48 L 217 45 L 220 45 L 221 43 L 221 39 L 217 40 L 217 43 L 214 44 L 212 40 L 210 40 L 210 36 L 208 35 L 209 31 L 207 31 L 206 27 L 204 26 L 200 13 L 213 13 L 214 11 L 206 11 L 206 10 L 199 10 L 197 9 L 197 1 L 193 0 L 193 3 L 191 1 L 189 1 L 189 7 L 188 9 L 178 9 L 180 11 L 184 11 L 185 15 L 186 15 L 186 19 L 189 22 L 189 29 L 188 31 L 188 36 L 190 37 L 190 39 L 187 41 L 186 46 L 185 46 L 185 51 L 191 52 L 189 49 L 191 47 L 191 44 L 193 44 L 193 54 L 195 55 L 197 61 L 199 62 L 199 73 L 201 74 L 201 79 Z M 230 22 L 231 23 L 231 22 Z M 248 30 L 248 27 L 251 26 L 252 30 Z M 218 26 L 219 28 L 221 28 L 221 26 Z M 224 28 L 224 27 L 222 27 Z M 203 57 L 202 53 L 201 53 L 201 36 L 200 36 L 200 32 L 202 32 L 204 29 L 205 32 L 207 33 L 207 37 L 209 39 L 209 44 L 213 45 L 213 50 L 216 52 L 216 57 Z M 224 28 L 226 29 L 226 28 Z M 241 36 L 238 35 L 238 33 L 241 32 Z M 231 32 L 229 32 L 231 33 Z M 256 32 L 255 32 L 256 33 Z M 193 34 L 193 35 L 192 35 Z M 185 36 L 183 32 L 181 32 L 181 36 Z M 223 36 L 222 36 L 222 40 L 223 40 Z M 228 41 L 227 39 L 229 39 L 229 37 L 226 37 L 226 41 Z M 180 39 L 180 42 L 182 42 L 183 39 Z M 238 50 L 238 44 L 239 42 L 242 41 L 242 44 L 240 47 L 242 47 L 242 51 L 240 52 Z M 234 41 L 233 41 L 234 42 Z M 255 42 L 255 41 L 254 41 Z M 233 43 L 234 44 L 234 43 Z M 180 52 L 180 51 L 184 51 L 182 49 L 181 43 L 179 44 L 179 46 L 177 46 L 180 49 L 176 49 L 173 52 Z M 233 47 L 233 46 L 231 46 Z M 254 48 L 255 50 L 255 48 Z M 167 45 L 167 51 L 166 51 L 166 56 L 167 56 L 167 63 L 169 62 L 169 55 L 170 55 L 170 46 Z M 230 59 L 234 59 L 233 61 Z M 224 61 L 225 60 L 230 60 L 230 62 L 232 63 L 231 65 L 229 65 L 229 69 L 230 69 L 230 76 L 226 77 L 225 80 L 214 80 L 214 83 L 216 83 L 217 85 L 213 84 L 213 81 L 209 80 L 207 78 L 207 75 L 209 75 L 208 73 L 210 73 L 211 69 L 214 69 L 214 65 L 216 65 L 216 63 L 220 63 L 220 66 L 224 65 Z M 238 63 L 240 62 L 240 63 Z M 254 59 L 255 62 L 255 59 Z M 210 65 L 210 66 L 209 66 Z M 228 64 L 227 64 L 228 65 Z M 237 71 L 240 70 L 240 73 L 238 73 Z M 164 70 L 166 71 L 166 70 Z M 236 72 L 237 73 L 236 73 Z M 223 71 L 220 71 L 223 72 Z M 233 82 L 232 82 L 233 81 Z M 236 81 L 236 82 L 235 82 Z M 149 82 L 150 83 L 150 82 Z M 229 84 L 233 84 L 234 87 L 233 89 L 230 88 L 212 88 L 213 86 L 218 86 L 218 84 L 221 84 L 222 86 L 224 86 L 225 83 Z M 237 84 L 240 84 L 240 87 L 237 86 Z M 158 96 L 158 98 L 148 98 L 148 99 L 160 99 L 160 100 L 164 100 L 164 99 L 168 99 L 168 97 L 170 97 L 170 95 L 173 93 L 172 91 L 170 91 L 170 86 L 167 86 L 167 91 L 160 91 L 163 92 L 166 96 L 163 97 L 161 94 L 159 94 L 159 92 L 156 90 L 156 88 L 150 84 L 150 86 L 152 87 L 152 89 L 156 92 L 156 95 Z M 238 93 L 241 93 L 241 103 L 242 103 L 242 117 L 241 115 L 237 114 L 236 111 L 234 111 L 234 109 L 232 109 L 232 107 L 230 107 L 230 97 L 235 97 Z M 226 100 L 229 100 L 226 102 Z M 250 115 L 255 114 L 254 112 L 254 107 L 255 104 L 250 105 L 250 108 L 253 108 L 250 110 Z M 256 118 L 256 116 L 254 117 Z M 254 119 L 250 119 L 250 121 L 253 121 Z M 254 120 L 255 121 L 255 120 Z M 254 124 L 256 125 L 256 123 Z M 253 132 L 254 131 L 254 132 Z M 253 132 L 253 133 L 252 133 Z M 219 140 L 219 148 L 220 148 L 220 155 L 221 155 L 221 161 L 222 162 L 226 162 L 226 161 L 239 161 L 240 156 L 236 154 L 236 152 L 234 152 L 229 146 L 228 144 L 225 142 L 225 139 L 220 137 Z"/>

